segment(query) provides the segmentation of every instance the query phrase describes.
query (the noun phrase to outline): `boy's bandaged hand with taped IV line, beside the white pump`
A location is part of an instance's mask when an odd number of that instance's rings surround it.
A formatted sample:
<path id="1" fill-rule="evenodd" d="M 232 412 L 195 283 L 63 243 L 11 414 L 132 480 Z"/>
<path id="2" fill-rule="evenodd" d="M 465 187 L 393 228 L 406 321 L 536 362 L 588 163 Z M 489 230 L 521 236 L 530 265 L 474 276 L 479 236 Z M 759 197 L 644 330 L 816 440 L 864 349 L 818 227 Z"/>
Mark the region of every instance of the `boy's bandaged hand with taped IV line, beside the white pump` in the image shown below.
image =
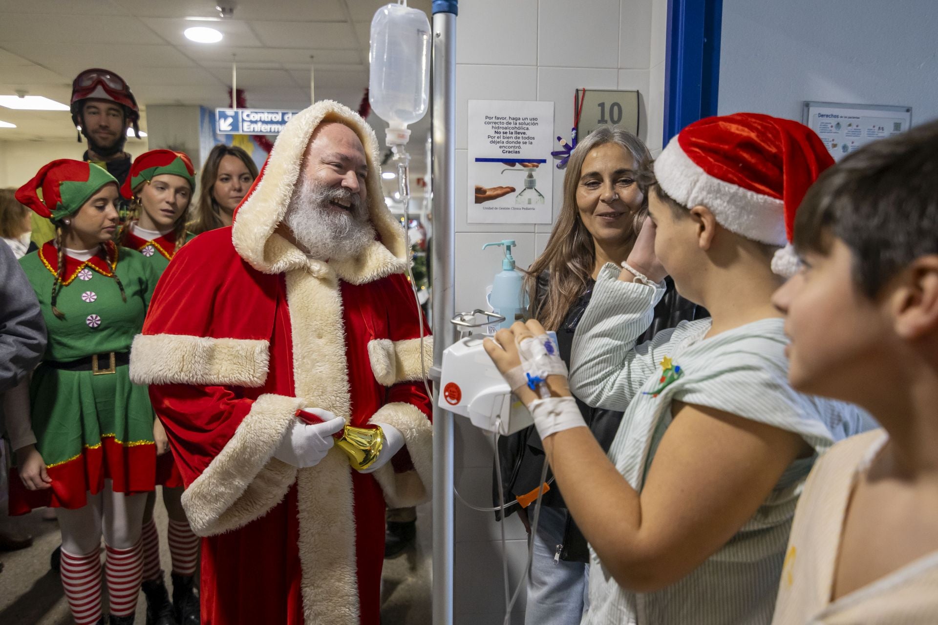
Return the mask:
<path id="1" fill-rule="evenodd" d="M 483 347 L 514 394 L 534 417 L 541 439 L 571 427 L 585 427 L 570 394 L 567 365 L 557 344 L 537 320 L 516 321 L 483 341 Z"/>

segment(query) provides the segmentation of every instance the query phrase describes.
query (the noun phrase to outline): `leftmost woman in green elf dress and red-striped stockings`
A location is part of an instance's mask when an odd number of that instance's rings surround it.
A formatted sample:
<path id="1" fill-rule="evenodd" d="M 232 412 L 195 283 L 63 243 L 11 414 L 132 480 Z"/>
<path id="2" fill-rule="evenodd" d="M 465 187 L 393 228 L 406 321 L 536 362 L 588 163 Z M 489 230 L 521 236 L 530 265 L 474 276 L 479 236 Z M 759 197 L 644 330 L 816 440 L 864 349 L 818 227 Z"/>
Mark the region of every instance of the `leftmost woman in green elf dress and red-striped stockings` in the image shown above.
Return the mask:
<path id="1" fill-rule="evenodd" d="M 110 622 L 133 622 L 145 493 L 156 482 L 154 413 L 128 363 L 159 274 L 139 252 L 114 245 L 119 197 L 110 173 L 70 159 L 49 163 L 16 193 L 52 220 L 55 239 L 20 260 L 49 344 L 29 413 L 7 415 L 18 459 L 10 513 L 58 509 L 62 585 L 80 625 L 104 622 L 102 536 Z"/>

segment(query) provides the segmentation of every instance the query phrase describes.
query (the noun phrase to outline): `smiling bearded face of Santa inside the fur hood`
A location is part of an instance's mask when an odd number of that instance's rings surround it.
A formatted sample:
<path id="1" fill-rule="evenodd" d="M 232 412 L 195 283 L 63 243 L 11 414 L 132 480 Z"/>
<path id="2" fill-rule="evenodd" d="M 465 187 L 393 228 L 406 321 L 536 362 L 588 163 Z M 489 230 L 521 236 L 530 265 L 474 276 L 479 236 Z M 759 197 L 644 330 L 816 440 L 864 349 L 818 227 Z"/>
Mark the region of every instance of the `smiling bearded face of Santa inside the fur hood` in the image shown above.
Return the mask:
<path id="1" fill-rule="evenodd" d="M 374 240 L 368 216 L 368 159 L 349 126 L 320 124 L 310 137 L 283 224 L 312 256 L 342 260 Z"/>

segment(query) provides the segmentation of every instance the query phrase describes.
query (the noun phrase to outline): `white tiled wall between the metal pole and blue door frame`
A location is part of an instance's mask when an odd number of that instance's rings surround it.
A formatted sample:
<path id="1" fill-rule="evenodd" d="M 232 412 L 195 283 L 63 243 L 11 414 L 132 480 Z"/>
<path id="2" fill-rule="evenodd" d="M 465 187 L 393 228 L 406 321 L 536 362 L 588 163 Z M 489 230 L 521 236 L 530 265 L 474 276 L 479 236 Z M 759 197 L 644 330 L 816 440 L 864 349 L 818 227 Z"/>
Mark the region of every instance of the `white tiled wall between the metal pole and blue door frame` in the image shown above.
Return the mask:
<path id="1" fill-rule="evenodd" d="M 485 288 L 501 270 L 500 250 L 482 244 L 515 239 L 512 251 L 526 268 L 547 246 L 552 225 L 470 224 L 466 219 L 469 99 L 550 100 L 554 135 L 569 139 L 573 91 L 637 89 L 641 94 L 639 135 L 660 149 L 664 101 L 664 19 L 667 0 L 472 0 L 461 3 L 457 21 L 456 70 L 456 308 L 485 305 Z M 656 48 L 658 46 L 658 48 Z M 659 66 L 659 67 L 656 67 Z M 657 71 L 656 71 L 657 70 Z M 553 217 L 563 202 L 564 170 L 550 171 Z M 466 420 L 456 428 L 456 478 L 463 498 L 492 505 L 492 439 Z M 500 524 L 493 513 L 455 506 L 454 621 L 499 625 L 505 617 Z M 511 589 L 527 558 L 526 533 L 517 515 L 507 518 Z M 522 622 L 525 598 L 512 610 Z"/>

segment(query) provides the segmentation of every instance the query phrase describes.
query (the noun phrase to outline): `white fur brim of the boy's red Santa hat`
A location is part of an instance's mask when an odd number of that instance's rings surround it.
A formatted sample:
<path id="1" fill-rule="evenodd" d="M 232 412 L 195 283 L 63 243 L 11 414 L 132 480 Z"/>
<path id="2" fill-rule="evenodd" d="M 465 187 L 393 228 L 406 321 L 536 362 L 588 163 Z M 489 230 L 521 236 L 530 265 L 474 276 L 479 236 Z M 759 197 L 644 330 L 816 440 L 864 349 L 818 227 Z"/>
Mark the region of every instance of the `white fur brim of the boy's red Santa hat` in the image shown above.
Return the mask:
<path id="1" fill-rule="evenodd" d="M 675 201 L 706 206 L 729 231 L 770 246 L 787 243 L 783 201 L 711 176 L 690 160 L 677 137 L 655 160 L 655 178 Z"/>

